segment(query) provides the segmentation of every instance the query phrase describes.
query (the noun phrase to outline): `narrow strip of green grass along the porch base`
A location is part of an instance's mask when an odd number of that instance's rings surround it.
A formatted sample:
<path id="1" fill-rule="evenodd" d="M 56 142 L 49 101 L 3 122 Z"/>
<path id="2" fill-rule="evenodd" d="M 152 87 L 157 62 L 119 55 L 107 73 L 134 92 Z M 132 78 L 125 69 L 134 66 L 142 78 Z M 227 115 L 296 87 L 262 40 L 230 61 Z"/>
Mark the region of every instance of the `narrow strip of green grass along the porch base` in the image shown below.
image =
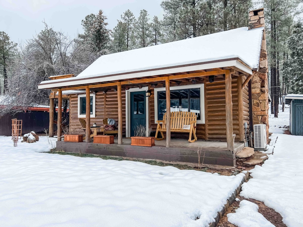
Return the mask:
<path id="1" fill-rule="evenodd" d="M 107 155 L 69 153 L 69 152 L 65 152 L 65 151 L 53 151 L 53 150 L 49 151 L 49 152 L 46 152 L 46 153 L 61 154 L 61 155 L 72 155 L 72 156 L 78 156 L 78 157 L 102 158 L 104 160 L 108 160 L 108 159 L 117 160 L 117 161 L 126 160 L 126 161 L 147 163 L 147 164 L 153 165 L 153 166 L 173 166 L 173 167 L 176 167 L 178 169 L 199 170 L 199 171 L 203 171 L 203 172 L 206 172 L 207 169 L 208 169 L 207 167 L 202 168 L 202 169 L 198 169 L 198 168 L 188 166 L 188 165 L 183 165 L 183 164 L 169 164 L 169 163 L 159 162 L 159 161 L 156 161 L 156 160 L 129 159 L 129 158 L 123 158 L 123 157 L 107 156 Z"/>

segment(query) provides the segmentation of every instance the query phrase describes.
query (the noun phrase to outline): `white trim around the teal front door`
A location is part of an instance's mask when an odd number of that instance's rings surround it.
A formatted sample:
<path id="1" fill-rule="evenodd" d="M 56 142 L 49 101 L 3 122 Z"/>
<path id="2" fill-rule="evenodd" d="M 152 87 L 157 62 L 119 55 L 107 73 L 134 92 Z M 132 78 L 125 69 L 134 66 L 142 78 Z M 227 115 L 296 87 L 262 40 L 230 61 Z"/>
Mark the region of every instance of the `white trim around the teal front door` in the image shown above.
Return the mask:
<path id="1" fill-rule="evenodd" d="M 130 88 L 129 90 L 125 90 L 125 127 L 126 127 L 126 130 L 125 130 L 125 133 L 126 133 L 126 137 L 130 137 L 131 135 L 131 129 L 130 129 L 130 93 L 131 92 L 134 92 L 134 91 L 148 91 L 148 87 L 142 87 L 142 88 L 138 88 L 138 87 L 134 87 L 134 88 Z M 146 129 L 148 129 L 149 125 L 148 125 L 148 122 L 149 122 L 149 113 L 148 113 L 148 97 L 145 97 L 146 98 Z"/>

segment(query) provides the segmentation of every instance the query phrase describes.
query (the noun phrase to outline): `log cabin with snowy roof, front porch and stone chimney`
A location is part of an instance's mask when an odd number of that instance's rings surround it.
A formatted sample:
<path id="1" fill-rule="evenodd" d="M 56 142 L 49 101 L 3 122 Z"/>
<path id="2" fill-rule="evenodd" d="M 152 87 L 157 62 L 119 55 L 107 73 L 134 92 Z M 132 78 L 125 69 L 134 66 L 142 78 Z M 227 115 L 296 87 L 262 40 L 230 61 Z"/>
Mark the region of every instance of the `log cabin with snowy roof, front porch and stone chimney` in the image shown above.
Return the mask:
<path id="1" fill-rule="evenodd" d="M 265 124 L 268 136 L 267 74 L 261 8 L 249 12 L 248 27 L 103 55 L 78 76 L 55 76 L 38 88 L 52 90 L 50 107 L 55 98 L 59 106 L 69 99 L 70 127 L 80 130 L 78 119 L 86 120 L 86 143 L 61 141 L 58 130 L 58 150 L 198 163 L 200 149 L 204 164 L 234 166 L 252 125 Z M 197 141 L 171 130 L 175 111 L 196 115 Z M 90 127 L 103 126 L 105 118 L 118 122 L 118 138 L 114 144 L 90 143 Z M 136 125 L 156 131 L 159 120 L 166 121 L 165 140 L 153 147 L 130 145 Z"/>

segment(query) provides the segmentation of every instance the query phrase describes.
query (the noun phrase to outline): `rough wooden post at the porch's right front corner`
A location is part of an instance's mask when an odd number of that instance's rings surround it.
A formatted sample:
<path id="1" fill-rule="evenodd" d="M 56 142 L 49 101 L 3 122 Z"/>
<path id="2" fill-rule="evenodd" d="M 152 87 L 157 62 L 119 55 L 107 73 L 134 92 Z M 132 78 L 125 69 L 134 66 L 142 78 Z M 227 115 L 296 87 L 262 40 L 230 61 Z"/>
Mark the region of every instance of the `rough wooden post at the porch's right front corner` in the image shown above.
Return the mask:
<path id="1" fill-rule="evenodd" d="M 225 111 L 227 150 L 234 151 L 236 135 L 232 128 L 231 72 L 229 69 L 225 70 Z"/>

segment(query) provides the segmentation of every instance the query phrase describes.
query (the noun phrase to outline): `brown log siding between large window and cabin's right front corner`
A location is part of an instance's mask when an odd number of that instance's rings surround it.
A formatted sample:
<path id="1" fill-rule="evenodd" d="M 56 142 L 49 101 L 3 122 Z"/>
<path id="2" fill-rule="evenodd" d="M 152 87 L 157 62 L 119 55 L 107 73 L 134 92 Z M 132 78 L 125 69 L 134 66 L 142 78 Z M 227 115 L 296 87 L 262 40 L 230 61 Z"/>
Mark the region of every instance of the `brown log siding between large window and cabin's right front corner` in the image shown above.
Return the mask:
<path id="1" fill-rule="evenodd" d="M 237 77 L 231 80 L 232 120 L 235 140 L 239 140 Z M 226 140 L 225 79 L 205 83 L 206 140 Z"/>

